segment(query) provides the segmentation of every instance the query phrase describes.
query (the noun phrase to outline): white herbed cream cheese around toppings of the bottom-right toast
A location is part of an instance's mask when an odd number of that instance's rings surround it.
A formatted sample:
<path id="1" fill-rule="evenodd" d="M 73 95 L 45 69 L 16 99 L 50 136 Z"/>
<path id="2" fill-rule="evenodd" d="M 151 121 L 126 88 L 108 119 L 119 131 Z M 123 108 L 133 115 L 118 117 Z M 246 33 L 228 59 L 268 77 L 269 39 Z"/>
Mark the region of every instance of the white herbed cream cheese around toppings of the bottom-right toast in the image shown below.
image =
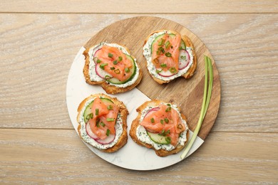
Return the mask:
<path id="1" fill-rule="evenodd" d="M 169 105 L 169 104 L 165 104 L 165 105 Z M 155 106 L 158 107 L 158 106 Z M 182 117 L 180 115 L 179 110 L 177 109 L 177 105 L 170 105 L 170 107 L 172 107 L 173 109 L 175 109 L 178 113 L 178 115 L 180 116 L 181 120 Z M 146 107 L 143 111 L 142 111 L 142 115 L 140 117 L 140 122 L 142 122 L 143 118 L 145 117 L 145 115 L 148 113 L 149 110 L 153 109 L 154 107 Z M 185 142 L 187 141 L 187 132 L 188 132 L 188 126 L 185 122 L 185 120 L 182 120 L 182 123 L 185 125 L 185 131 L 183 131 L 182 133 L 180 133 L 180 137 L 178 139 L 177 144 L 180 144 L 182 146 L 185 145 Z M 143 127 L 142 125 L 139 125 L 136 129 L 136 137 L 141 141 L 141 142 L 145 142 L 147 144 L 152 145 L 155 149 L 165 149 L 167 151 L 171 151 L 173 149 L 175 149 L 176 146 L 173 146 L 172 144 L 158 144 L 156 142 L 153 142 L 152 139 L 150 139 L 150 137 L 147 134 L 147 130 L 145 129 L 145 127 Z"/>

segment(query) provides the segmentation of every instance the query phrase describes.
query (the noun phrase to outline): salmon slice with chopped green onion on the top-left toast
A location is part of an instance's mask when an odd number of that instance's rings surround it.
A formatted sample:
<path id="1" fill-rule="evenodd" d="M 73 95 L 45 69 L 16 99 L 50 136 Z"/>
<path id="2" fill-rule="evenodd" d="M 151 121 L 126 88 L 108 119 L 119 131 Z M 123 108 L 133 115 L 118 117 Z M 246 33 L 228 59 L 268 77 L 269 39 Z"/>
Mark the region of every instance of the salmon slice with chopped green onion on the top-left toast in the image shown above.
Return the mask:
<path id="1" fill-rule="evenodd" d="M 100 65 L 102 70 L 105 70 L 113 78 L 117 78 L 120 81 L 125 81 L 132 75 L 130 68 L 133 63 L 128 60 L 125 53 L 120 51 L 119 48 L 103 46 L 96 51 L 94 61 L 97 65 Z"/>

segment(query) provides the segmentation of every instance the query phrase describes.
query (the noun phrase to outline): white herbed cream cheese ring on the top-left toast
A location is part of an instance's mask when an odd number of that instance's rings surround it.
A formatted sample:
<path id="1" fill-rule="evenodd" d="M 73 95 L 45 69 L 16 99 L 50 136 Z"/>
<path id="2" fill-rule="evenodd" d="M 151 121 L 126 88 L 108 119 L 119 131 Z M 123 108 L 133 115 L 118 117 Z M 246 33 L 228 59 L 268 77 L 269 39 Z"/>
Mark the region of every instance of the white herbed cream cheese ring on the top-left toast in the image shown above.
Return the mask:
<path id="1" fill-rule="evenodd" d="M 99 43 L 98 45 L 96 46 L 93 46 L 93 48 L 91 48 L 89 51 L 88 51 L 88 55 L 89 55 L 89 75 L 90 75 L 90 80 L 93 81 L 93 82 L 101 82 L 105 79 L 101 78 L 99 75 L 96 74 L 96 63 L 93 61 L 93 56 L 95 55 L 96 51 L 98 51 L 99 49 L 101 49 L 103 46 L 110 46 L 110 47 L 114 47 L 114 48 L 118 48 L 120 49 L 120 51 L 122 51 L 124 54 L 130 56 L 130 53 L 128 53 L 128 51 L 126 51 L 126 49 L 123 47 L 123 46 L 120 46 L 116 43 Z M 133 77 L 133 79 L 129 80 L 127 83 L 123 83 L 123 84 L 114 84 L 114 83 L 110 83 L 110 85 L 114 85 L 118 88 L 126 88 L 130 85 L 133 85 L 136 80 L 138 79 L 139 77 L 139 68 L 138 68 L 138 64 L 136 63 L 136 58 L 133 58 L 133 60 L 135 61 L 135 65 L 136 65 L 136 72 L 135 72 L 135 75 Z M 107 81 L 105 81 L 106 83 L 108 83 Z"/>

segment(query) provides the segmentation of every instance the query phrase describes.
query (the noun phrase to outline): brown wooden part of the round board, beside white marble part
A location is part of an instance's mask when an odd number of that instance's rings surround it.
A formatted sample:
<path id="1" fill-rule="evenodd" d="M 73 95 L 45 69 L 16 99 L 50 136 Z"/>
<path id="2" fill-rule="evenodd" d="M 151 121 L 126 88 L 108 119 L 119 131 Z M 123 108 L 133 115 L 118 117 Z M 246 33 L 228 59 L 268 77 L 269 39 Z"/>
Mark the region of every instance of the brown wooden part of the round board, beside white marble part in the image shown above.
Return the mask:
<path id="1" fill-rule="evenodd" d="M 191 39 L 197 54 L 197 69 L 192 78 L 177 78 L 164 85 L 156 83 L 155 80 L 151 78 L 146 68 L 145 58 L 143 57 L 143 43 L 150 33 L 162 29 L 177 31 Z M 130 50 L 130 54 L 137 58 L 140 68 L 143 70 L 143 79 L 137 86 L 138 90 L 152 100 L 165 100 L 180 106 L 182 113 L 187 117 L 187 123 L 192 131 L 194 131 L 197 125 L 202 107 L 205 83 L 204 55 L 209 56 L 212 59 L 213 65 L 212 97 L 207 115 L 205 116 L 205 120 L 198 134 L 202 139 L 207 137 L 207 134 L 209 134 L 210 129 L 215 123 L 220 107 L 220 76 L 215 60 L 213 60 L 210 51 L 208 51 L 200 38 L 195 36 L 194 33 L 184 26 L 173 21 L 158 17 L 138 16 L 117 21 L 103 28 L 103 30 L 93 36 L 84 47 L 88 48 L 103 41 L 118 43 L 122 46 L 126 46 Z M 136 100 L 136 97 L 134 97 L 134 100 Z"/>

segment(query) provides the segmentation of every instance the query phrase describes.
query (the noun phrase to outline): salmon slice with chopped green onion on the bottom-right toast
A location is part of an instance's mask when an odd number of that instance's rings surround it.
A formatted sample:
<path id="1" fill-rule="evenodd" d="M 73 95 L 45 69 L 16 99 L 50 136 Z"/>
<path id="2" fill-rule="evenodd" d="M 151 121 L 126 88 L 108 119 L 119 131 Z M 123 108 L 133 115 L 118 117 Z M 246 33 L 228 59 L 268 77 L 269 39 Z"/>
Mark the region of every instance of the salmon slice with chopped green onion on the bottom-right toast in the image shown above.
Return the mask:
<path id="1" fill-rule="evenodd" d="M 177 110 L 164 104 L 149 110 L 140 125 L 145 127 L 148 132 L 160 133 L 170 137 L 170 143 L 173 146 L 177 145 L 180 133 L 185 131 L 185 125 L 182 123 Z"/>

